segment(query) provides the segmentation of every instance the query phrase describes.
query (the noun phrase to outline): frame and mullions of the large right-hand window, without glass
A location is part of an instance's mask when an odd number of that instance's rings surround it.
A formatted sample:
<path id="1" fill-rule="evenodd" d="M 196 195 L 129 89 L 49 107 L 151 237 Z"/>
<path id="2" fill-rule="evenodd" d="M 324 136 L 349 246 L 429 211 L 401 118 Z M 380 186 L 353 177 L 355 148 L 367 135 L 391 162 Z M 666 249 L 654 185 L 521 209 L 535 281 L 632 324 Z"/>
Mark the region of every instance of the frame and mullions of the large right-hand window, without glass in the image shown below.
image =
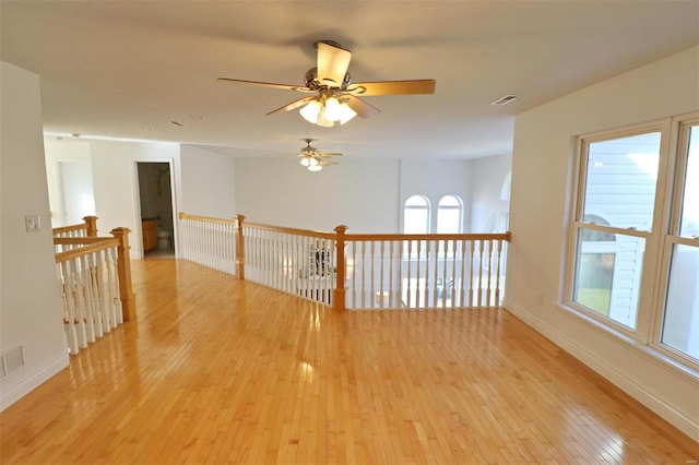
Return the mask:
<path id="1" fill-rule="evenodd" d="M 685 130 L 683 132 L 683 128 L 688 128 L 697 123 L 699 123 L 699 114 L 691 114 L 637 124 L 624 130 L 596 132 L 577 138 L 573 165 L 574 176 L 573 182 L 571 182 L 570 195 L 571 216 L 568 223 L 568 245 L 562 273 L 565 282 L 561 296 L 562 308 L 566 310 L 582 317 L 587 321 L 592 321 L 599 327 L 603 327 L 623 339 L 631 338 L 640 345 L 647 346 L 655 353 L 660 353 L 661 358 L 672 359 L 673 365 L 677 362 L 677 365 L 687 367 L 695 372 L 699 370 L 699 361 L 679 350 L 664 345 L 661 338 L 673 246 L 675 243 L 687 243 L 688 241 L 692 246 L 699 245 L 699 238 L 688 239 L 673 236 L 673 233 L 678 231 L 679 227 L 682 181 L 684 179 L 684 165 L 687 158 L 684 156 L 685 153 L 680 152 L 687 146 L 686 133 L 688 133 L 688 131 Z M 584 223 L 582 217 L 589 145 L 595 142 L 628 138 L 655 131 L 661 133 L 661 142 L 653 220 L 649 230 L 625 229 L 615 226 Z M 578 234 L 579 230 L 582 229 L 626 235 L 642 238 L 645 241 L 636 329 L 628 327 L 573 301 Z"/>

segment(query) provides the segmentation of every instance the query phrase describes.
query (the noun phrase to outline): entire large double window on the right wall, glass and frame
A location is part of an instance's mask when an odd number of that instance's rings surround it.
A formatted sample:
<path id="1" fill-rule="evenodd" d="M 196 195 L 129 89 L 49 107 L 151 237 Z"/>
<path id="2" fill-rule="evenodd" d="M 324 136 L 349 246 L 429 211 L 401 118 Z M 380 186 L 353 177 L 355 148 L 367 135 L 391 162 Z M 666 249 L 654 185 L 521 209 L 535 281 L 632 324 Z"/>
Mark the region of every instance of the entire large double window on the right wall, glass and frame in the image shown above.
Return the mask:
<path id="1" fill-rule="evenodd" d="M 699 120 L 580 138 L 578 175 L 566 303 L 696 363 Z"/>

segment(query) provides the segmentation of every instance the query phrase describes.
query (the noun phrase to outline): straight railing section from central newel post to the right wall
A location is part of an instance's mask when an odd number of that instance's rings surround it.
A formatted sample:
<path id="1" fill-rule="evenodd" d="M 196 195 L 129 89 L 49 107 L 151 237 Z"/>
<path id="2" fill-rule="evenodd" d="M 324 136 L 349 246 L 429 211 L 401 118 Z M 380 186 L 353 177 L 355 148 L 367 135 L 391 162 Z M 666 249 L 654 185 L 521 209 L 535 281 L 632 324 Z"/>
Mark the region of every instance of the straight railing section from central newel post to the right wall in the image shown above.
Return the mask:
<path id="1" fill-rule="evenodd" d="M 508 240 L 508 234 L 346 235 L 346 308 L 499 307 Z"/>

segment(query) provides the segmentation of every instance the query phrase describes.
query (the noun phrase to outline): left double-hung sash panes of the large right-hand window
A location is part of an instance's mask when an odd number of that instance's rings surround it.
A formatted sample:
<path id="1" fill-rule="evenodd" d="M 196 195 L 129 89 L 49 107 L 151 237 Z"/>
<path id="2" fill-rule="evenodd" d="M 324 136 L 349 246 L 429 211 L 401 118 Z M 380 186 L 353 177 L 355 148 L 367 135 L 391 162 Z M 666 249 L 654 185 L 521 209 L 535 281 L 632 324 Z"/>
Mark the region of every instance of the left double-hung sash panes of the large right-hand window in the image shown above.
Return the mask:
<path id="1" fill-rule="evenodd" d="M 651 131 L 582 141 L 572 301 L 631 330 L 655 205 L 660 138 Z"/>

